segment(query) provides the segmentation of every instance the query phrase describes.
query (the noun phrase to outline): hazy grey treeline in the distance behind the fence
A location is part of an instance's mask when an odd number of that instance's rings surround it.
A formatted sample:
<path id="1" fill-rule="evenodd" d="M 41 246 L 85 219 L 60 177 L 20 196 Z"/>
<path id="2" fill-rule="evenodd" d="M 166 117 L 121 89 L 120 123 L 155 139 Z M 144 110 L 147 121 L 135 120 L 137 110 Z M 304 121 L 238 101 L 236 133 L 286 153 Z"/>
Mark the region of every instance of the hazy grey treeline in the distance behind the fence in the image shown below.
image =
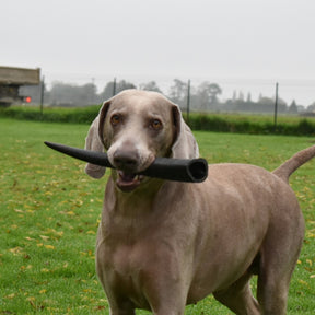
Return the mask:
<path id="1" fill-rule="evenodd" d="M 62 107 L 95 105 L 126 89 L 140 89 L 162 93 L 162 90 L 155 81 L 139 84 L 138 86 L 125 80 L 119 82 L 110 81 L 101 93 L 97 93 L 97 88 L 94 83 L 75 85 L 55 82 L 50 90 L 45 88 L 44 103 L 49 106 Z M 198 86 L 190 86 L 189 83 L 175 79 L 168 91 L 163 91 L 163 94 L 178 104 L 184 110 L 187 109 L 188 102 L 189 108 L 192 112 L 273 113 L 275 110 L 275 100 L 272 97 L 261 95 L 257 102 L 254 102 L 252 101 L 249 93 L 247 97 L 245 97 L 242 92 L 238 93 L 238 95 L 236 95 L 235 92 L 232 98 L 222 101 L 220 100 L 222 92 L 222 88 L 217 83 L 205 81 Z M 35 104 L 40 102 L 40 91 L 38 86 L 22 86 L 20 88 L 20 94 L 32 96 L 32 102 Z M 305 108 L 303 106 L 298 106 L 295 101 L 292 101 L 291 104 L 287 104 L 280 97 L 278 98 L 279 113 L 296 114 L 301 108 L 305 112 Z M 314 110 L 315 102 L 306 108 L 306 112 L 310 113 Z"/>

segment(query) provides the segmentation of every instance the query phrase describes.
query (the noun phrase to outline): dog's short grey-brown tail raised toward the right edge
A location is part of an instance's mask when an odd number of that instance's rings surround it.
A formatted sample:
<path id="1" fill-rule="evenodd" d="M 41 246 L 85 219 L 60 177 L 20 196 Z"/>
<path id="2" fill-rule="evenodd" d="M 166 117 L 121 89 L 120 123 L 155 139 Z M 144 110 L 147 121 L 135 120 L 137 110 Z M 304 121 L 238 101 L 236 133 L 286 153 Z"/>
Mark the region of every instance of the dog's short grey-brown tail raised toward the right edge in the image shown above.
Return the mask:
<path id="1" fill-rule="evenodd" d="M 290 175 L 301 165 L 315 156 L 315 145 L 310 147 L 294 154 L 291 159 L 281 164 L 272 173 L 284 182 L 289 182 Z"/>

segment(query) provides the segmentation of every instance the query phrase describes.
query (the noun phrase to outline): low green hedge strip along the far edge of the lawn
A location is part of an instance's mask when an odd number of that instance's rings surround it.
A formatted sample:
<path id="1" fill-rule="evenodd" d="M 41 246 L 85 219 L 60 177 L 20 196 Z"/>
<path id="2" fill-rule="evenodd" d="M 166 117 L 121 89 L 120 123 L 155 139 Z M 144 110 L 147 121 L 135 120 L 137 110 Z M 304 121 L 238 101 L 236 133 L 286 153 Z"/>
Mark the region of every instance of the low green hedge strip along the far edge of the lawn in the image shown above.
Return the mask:
<path id="1" fill-rule="evenodd" d="M 39 120 L 48 122 L 91 124 L 97 116 L 100 105 L 74 108 L 9 107 L 0 108 L 0 117 Z M 224 114 L 190 114 L 192 130 L 215 132 L 235 132 L 253 135 L 315 136 L 315 122 L 312 118 L 285 117 L 279 119 L 275 128 L 272 116 L 238 116 Z"/>

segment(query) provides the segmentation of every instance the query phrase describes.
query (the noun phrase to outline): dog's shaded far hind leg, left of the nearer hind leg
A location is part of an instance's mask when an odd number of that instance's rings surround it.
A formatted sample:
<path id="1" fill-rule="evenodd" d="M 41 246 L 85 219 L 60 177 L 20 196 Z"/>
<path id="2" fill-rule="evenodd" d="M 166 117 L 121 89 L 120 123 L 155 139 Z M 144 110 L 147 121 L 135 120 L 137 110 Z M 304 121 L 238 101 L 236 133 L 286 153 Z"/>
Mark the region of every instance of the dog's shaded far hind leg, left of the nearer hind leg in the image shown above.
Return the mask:
<path id="1" fill-rule="evenodd" d="M 246 272 L 228 289 L 214 292 L 214 298 L 237 315 L 259 315 L 260 308 L 249 287 L 250 272 Z"/>

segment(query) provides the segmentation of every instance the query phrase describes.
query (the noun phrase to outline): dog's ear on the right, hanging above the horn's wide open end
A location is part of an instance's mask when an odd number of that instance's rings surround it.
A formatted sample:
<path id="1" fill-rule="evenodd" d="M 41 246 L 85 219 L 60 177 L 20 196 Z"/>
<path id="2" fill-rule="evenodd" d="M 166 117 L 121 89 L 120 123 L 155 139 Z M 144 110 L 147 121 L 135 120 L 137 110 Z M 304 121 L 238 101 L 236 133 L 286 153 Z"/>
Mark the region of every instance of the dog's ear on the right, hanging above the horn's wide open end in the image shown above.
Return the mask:
<path id="1" fill-rule="evenodd" d="M 199 158 L 197 141 L 185 122 L 180 109 L 177 105 L 172 106 L 174 140 L 172 147 L 172 158 L 174 159 L 195 159 Z"/>

